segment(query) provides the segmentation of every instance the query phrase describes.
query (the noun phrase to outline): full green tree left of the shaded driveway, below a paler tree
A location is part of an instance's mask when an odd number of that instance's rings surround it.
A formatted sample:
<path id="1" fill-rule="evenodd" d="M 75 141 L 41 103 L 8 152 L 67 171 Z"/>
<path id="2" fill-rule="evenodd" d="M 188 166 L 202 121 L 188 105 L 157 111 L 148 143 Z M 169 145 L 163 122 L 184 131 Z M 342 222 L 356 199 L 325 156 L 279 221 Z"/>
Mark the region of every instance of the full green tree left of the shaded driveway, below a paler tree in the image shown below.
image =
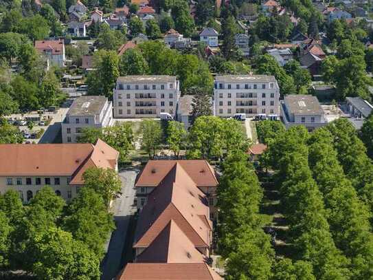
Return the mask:
<path id="1" fill-rule="evenodd" d="M 101 259 L 106 239 L 115 226 L 113 215 L 106 211 L 102 197 L 93 189 L 83 188 L 69 205 L 63 228 Z"/>

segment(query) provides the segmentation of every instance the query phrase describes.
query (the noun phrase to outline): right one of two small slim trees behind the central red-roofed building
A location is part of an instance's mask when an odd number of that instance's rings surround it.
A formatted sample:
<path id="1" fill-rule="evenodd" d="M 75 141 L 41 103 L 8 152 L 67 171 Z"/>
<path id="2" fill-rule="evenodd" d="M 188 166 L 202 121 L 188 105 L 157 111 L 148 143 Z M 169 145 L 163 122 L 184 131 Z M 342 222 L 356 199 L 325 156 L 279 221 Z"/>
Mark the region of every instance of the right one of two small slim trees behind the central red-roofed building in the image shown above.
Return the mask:
<path id="1" fill-rule="evenodd" d="M 187 131 L 182 122 L 168 122 L 167 143 L 176 158 L 179 158 L 181 149 L 185 149 Z"/>

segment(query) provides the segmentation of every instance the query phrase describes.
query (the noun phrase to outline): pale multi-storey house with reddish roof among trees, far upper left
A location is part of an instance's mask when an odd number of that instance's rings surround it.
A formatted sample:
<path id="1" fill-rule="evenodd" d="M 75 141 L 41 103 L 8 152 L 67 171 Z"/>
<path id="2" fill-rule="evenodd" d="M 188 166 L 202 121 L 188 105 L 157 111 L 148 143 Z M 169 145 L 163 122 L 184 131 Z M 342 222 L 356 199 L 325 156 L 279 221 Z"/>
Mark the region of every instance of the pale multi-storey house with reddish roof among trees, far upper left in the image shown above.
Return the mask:
<path id="1" fill-rule="evenodd" d="M 48 63 L 58 67 L 65 66 L 65 44 L 63 40 L 35 41 L 35 48 L 45 55 Z"/>

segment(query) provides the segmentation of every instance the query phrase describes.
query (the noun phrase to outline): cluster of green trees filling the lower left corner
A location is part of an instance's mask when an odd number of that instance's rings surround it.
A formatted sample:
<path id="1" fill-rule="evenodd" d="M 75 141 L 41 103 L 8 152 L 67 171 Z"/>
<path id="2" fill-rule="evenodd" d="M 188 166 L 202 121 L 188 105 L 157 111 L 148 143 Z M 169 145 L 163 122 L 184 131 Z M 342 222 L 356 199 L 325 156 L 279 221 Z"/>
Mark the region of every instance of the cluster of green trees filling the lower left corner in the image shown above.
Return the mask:
<path id="1" fill-rule="evenodd" d="M 84 180 L 70 204 L 49 186 L 26 206 L 16 191 L 0 195 L 1 270 L 38 279 L 100 279 L 104 243 L 115 228 L 108 200 L 121 183 L 109 169 L 88 169 Z"/>

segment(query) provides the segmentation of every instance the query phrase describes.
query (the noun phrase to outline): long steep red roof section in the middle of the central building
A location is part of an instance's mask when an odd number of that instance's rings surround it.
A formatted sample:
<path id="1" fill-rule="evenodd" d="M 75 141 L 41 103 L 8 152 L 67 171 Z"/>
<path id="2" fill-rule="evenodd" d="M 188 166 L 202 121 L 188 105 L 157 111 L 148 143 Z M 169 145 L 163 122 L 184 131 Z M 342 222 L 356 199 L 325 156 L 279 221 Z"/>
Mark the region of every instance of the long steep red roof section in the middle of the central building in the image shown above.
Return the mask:
<path id="1" fill-rule="evenodd" d="M 148 247 L 173 220 L 195 247 L 210 246 L 211 224 L 205 195 L 181 164 L 174 164 L 148 196 L 137 222 L 135 248 Z"/>

